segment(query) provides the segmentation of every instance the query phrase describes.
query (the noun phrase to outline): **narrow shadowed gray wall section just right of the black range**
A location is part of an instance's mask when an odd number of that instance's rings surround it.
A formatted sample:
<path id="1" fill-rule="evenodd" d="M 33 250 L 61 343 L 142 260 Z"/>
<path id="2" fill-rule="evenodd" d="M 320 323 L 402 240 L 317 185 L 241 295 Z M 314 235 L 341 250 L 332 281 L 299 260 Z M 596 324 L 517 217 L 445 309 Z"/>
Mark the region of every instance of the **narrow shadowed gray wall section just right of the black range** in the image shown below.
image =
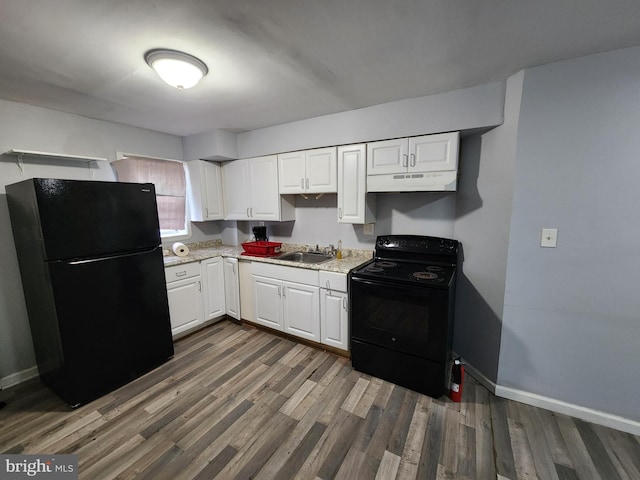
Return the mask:
<path id="1" fill-rule="evenodd" d="M 504 123 L 461 144 L 454 238 L 463 262 L 456 293 L 454 348 L 496 383 L 507 271 L 513 175 L 524 72 L 507 80 Z"/>

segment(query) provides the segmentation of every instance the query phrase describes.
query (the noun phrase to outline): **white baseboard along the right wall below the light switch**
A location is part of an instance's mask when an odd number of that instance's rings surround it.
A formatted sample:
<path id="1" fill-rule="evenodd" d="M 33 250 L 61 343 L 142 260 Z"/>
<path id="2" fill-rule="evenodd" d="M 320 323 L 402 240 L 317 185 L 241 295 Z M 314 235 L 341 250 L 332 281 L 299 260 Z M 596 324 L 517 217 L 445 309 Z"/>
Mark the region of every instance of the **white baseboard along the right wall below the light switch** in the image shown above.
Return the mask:
<path id="1" fill-rule="evenodd" d="M 516 402 L 520 403 L 526 403 L 527 405 L 544 408 L 546 410 L 551 410 L 552 412 L 570 415 L 587 422 L 614 428 L 616 430 L 631 433 L 633 435 L 640 435 L 640 422 L 620 417 L 618 415 L 613 415 L 611 413 L 581 407 L 579 405 L 563 402 L 555 398 L 543 397 L 542 395 L 525 392 L 524 390 L 518 390 L 516 388 L 505 387 L 502 385 L 496 385 L 495 394 L 498 397 L 515 400 Z"/>

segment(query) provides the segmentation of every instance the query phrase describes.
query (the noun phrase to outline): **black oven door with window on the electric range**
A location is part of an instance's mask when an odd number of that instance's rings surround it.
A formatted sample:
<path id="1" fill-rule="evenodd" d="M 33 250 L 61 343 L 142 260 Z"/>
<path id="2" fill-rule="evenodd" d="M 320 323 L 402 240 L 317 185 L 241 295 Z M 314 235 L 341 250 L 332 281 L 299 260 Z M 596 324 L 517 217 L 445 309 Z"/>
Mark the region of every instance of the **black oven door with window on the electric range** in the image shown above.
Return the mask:
<path id="1" fill-rule="evenodd" d="M 421 358 L 445 362 L 449 292 L 351 278 L 351 337 Z"/>

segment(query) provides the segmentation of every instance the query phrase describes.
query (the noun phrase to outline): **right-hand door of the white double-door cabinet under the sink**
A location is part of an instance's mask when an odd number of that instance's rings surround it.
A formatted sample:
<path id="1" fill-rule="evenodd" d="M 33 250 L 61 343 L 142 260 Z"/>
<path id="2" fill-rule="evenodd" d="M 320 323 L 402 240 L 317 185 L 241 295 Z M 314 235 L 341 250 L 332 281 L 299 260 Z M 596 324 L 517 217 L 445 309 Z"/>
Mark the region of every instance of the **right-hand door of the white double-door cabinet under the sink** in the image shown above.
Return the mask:
<path id="1" fill-rule="evenodd" d="M 319 342 L 319 288 L 292 282 L 282 282 L 282 284 L 284 331 Z"/>

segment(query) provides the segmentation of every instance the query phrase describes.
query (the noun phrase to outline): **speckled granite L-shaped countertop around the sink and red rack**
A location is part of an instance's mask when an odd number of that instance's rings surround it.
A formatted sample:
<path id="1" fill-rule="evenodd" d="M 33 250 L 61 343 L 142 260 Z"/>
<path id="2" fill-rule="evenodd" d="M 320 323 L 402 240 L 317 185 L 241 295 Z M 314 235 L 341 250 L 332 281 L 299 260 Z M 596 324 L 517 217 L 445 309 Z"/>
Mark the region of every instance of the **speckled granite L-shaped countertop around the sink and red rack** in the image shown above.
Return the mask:
<path id="1" fill-rule="evenodd" d="M 265 257 L 251 257 L 247 255 L 241 255 L 243 249 L 242 246 L 223 245 L 220 241 L 209 241 L 202 243 L 188 243 L 189 254 L 186 257 L 178 257 L 171 253 L 171 251 L 165 251 L 164 266 L 170 267 L 173 265 L 180 265 L 183 263 L 199 262 L 213 257 L 233 257 L 241 260 L 248 260 L 252 262 L 264 262 L 274 263 L 277 265 L 286 265 L 287 267 L 307 268 L 309 270 L 325 270 L 329 272 L 348 273 L 354 267 L 361 265 L 362 263 L 373 258 L 373 251 L 369 250 L 343 250 L 343 258 L 340 260 L 334 259 L 328 262 L 308 264 L 298 262 L 288 262 L 278 260 L 277 258 L 265 258 Z M 295 252 L 300 250 L 306 250 L 303 245 L 282 244 L 282 253 Z"/>

